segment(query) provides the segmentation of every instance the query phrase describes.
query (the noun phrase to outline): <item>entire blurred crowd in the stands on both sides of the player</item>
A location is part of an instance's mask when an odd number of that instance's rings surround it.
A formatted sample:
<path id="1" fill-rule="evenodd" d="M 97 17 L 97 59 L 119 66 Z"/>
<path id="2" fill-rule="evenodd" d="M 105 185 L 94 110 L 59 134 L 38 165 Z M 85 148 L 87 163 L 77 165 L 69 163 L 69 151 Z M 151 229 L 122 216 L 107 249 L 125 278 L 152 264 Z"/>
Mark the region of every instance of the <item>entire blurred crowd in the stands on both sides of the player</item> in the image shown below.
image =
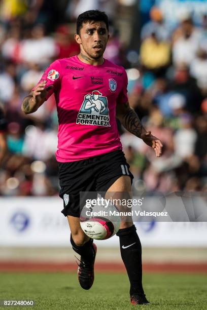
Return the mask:
<path id="1" fill-rule="evenodd" d="M 58 195 L 54 97 L 26 116 L 21 103 L 53 60 L 78 54 L 75 19 L 92 8 L 109 15 L 110 41 L 104 56 L 126 68 L 130 105 L 164 145 L 163 156 L 156 158 L 151 148 L 118 124 L 134 175 L 133 191 L 206 190 L 207 16 L 200 16 L 195 25 L 185 11 L 170 28 L 161 10 L 152 7 L 150 20 L 137 29 L 140 49 L 131 50 L 112 22 L 125 2 L 0 1 L 0 105 L 8 124 L 0 195 Z"/>

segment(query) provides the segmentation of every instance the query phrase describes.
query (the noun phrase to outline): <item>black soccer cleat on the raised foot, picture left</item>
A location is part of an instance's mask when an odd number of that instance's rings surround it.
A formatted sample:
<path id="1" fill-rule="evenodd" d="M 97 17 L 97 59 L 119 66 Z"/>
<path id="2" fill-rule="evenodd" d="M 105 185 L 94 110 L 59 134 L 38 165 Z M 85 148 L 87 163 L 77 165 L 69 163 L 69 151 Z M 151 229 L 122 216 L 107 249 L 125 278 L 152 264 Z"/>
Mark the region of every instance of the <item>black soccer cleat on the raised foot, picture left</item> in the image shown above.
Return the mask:
<path id="1" fill-rule="evenodd" d="M 91 286 L 93 285 L 94 281 L 94 262 L 95 262 L 95 256 L 97 252 L 97 247 L 93 243 L 93 251 L 94 251 L 94 258 L 92 261 L 84 261 L 82 259 L 79 260 L 80 263 L 78 264 L 78 281 L 80 283 L 80 286 L 84 290 L 89 290 Z"/>

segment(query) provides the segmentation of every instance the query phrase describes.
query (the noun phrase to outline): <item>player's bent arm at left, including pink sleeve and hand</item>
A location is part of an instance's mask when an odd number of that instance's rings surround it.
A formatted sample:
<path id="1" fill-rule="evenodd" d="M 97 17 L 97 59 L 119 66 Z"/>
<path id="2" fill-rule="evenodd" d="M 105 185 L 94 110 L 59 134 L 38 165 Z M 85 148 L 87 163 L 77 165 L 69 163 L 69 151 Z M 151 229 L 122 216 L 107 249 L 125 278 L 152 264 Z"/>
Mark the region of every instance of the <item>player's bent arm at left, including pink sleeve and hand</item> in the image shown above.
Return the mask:
<path id="1" fill-rule="evenodd" d="M 24 98 L 21 109 L 25 114 L 37 111 L 52 93 L 61 87 L 61 72 L 62 69 L 59 60 L 51 63 L 43 73 L 38 85 Z"/>

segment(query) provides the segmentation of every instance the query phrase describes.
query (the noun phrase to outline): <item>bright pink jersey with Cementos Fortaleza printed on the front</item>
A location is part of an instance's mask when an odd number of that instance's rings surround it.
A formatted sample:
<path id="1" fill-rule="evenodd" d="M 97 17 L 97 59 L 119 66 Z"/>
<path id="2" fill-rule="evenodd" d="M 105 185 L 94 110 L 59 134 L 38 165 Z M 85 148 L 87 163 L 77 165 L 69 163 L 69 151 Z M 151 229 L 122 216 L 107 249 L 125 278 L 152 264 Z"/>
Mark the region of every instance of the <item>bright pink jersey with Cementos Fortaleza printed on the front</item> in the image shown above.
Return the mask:
<path id="1" fill-rule="evenodd" d="M 122 149 L 116 124 L 116 104 L 127 98 L 123 67 L 105 60 L 93 66 L 78 56 L 54 61 L 40 82 L 53 85 L 58 128 L 58 162 L 74 162 Z M 40 83 L 39 82 L 39 83 Z"/>

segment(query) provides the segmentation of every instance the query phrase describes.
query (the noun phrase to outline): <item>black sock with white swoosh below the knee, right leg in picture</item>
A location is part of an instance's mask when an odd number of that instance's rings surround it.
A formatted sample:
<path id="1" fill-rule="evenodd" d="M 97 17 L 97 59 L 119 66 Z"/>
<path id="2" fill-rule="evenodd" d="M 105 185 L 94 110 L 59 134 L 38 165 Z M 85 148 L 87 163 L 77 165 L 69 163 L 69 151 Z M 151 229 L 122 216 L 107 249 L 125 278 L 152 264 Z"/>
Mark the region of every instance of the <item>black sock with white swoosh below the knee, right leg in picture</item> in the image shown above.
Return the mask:
<path id="1" fill-rule="evenodd" d="M 130 295 L 144 294 L 142 286 L 142 246 L 136 227 L 119 229 L 121 257 L 130 281 Z"/>

